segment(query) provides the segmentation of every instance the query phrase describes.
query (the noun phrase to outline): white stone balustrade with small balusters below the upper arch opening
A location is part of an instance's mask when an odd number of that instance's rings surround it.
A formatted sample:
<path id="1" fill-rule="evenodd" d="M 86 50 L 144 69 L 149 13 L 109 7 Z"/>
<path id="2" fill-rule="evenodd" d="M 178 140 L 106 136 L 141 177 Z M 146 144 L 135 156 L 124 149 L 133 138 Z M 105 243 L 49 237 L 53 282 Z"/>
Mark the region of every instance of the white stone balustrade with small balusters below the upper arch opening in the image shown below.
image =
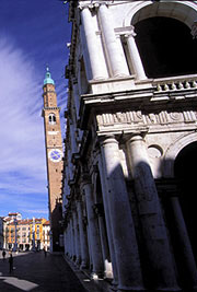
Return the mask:
<path id="1" fill-rule="evenodd" d="M 197 75 L 182 75 L 172 78 L 154 79 L 152 85 L 155 87 L 154 93 L 182 91 L 197 89 Z"/>

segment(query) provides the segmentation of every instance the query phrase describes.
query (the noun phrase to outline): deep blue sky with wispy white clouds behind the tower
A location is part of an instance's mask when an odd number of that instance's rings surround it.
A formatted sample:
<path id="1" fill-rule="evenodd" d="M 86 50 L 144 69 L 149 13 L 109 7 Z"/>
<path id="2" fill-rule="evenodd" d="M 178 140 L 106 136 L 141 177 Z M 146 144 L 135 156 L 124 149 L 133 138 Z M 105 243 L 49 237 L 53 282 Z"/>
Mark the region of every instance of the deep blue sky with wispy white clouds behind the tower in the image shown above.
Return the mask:
<path id="1" fill-rule="evenodd" d="M 0 0 L 0 215 L 48 218 L 43 81 L 46 65 L 66 108 L 68 8 L 59 0 Z"/>

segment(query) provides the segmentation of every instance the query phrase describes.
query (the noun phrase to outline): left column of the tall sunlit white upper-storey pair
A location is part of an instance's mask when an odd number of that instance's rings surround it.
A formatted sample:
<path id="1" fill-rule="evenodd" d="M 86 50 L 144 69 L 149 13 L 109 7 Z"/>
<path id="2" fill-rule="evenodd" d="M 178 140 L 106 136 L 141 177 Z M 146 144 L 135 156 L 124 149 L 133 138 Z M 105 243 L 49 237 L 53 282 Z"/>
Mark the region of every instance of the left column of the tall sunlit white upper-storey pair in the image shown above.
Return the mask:
<path id="1" fill-rule="evenodd" d="M 88 56 L 90 59 L 92 79 L 104 79 L 107 78 L 106 65 L 104 58 L 101 58 L 101 54 L 97 51 L 97 38 L 92 25 L 93 17 L 88 7 L 84 7 L 81 11 L 81 20 L 83 25 L 83 33 L 85 36 Z"/>

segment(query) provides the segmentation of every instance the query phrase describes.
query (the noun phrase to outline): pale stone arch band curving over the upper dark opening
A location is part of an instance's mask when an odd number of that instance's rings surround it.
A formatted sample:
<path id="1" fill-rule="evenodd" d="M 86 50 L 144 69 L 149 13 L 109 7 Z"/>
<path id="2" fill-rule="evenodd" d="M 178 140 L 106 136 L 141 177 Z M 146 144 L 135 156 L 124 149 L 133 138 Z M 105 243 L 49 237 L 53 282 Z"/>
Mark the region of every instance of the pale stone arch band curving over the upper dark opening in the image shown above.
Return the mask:
<path id="1" fill-rule="evenodd" d="M 135 25 L 137 22 L 154 16 L 176 19 L 192 27 L 197 20 L 197 5 L 190 1 L 152 2 L 139 1 L 128 11 L 124 20 L 124 26 Z"/>

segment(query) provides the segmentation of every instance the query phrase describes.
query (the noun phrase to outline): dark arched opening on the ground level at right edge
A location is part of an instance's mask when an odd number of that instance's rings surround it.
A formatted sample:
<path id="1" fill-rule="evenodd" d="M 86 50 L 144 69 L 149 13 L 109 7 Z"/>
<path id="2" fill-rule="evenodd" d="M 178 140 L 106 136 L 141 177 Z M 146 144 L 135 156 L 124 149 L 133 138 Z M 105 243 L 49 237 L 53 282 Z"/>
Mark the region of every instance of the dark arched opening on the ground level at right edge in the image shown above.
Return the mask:
<path id="1" fill-rule="evenodd" d="M 177 179 L 177 188 L 183 217 L 186 223 L 188 236 L 197 262 L 197 142 L 185 147 L 174 162 L 174 175 Z"/>

